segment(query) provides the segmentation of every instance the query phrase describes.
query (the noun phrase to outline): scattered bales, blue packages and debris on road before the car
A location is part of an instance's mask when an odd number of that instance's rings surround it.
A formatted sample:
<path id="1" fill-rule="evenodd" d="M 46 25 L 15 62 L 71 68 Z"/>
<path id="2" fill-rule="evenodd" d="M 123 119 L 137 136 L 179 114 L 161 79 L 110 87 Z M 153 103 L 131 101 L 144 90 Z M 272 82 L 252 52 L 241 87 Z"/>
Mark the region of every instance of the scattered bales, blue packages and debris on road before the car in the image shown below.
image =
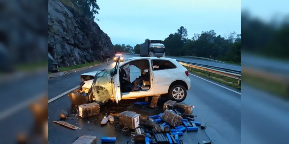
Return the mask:
<path id="1" fill-rule="evenodd" d="M 71 98 L 71 102 L 73 105 L 79 105 L 79 117 L 85 118 L 99 114 L 99 104 L 86 104 L 85 96 L 69 93 L 68 97 Z M 149 106 L 152 108 L 157 108 L 156 103 L 158 102 L 159 98 L 160 96 L 154 96 Z M 148 98 L 146 98 L 145 102 L 135 102 L 134 105 L 148 105 L 149 101 L 147 101 L 147 99 Z M 176 103 L 175 101 L 167 101 L 163 105 L 163 113 L 148 116 L 147 120 L 141 120 L 141 115 L 133 111 L 123 111 L 121 113 L 112 113 L 112 111 L 110 111 L 110 115 L 105 114 L 103 120 L 101 121 L 101 124 L 106 124 L 108 121 L 110 121 L 110 123 L 114 123 L 116 121 L 116 124 L 124 126 L 122 131 L 134 129 L 135 131 L 131 132 L 131 135 L 133 135 L 134 137 L 134 140 L 131 139 L 131 142 L 134 143 L 180 144 L 182 143 L 180 136 L 182 136 L 184 132 L 198 131 L 198 126 L 201 126 L 201 129 L 205 129 L 205 123 L 195 121 L 194 117 L 196 117 L 196 115 L 192 115 L 193 107 L 194 106 L 192 105 Z M 74 116 L 76 117 L 77 115 Z M 60 114 L 60 117 L 62 119 L 66 119 L 68 117 L 68 113 L 66 111 L 63 111 Z M 76 130 L 78 128 L 64 121 L 53 122 L 71 128 L 73 130 Z M 124 130 L 125 128 L 127 129 Z M 90 144 L 93 142 L 97 143 L 97 137 L 84 135 L 79 137 L 74 142 L 74 144 Z M 116 137 L 102 137 L 101 142 L 116 142 Z M 210 141 L 202 141 L 201 143 L 209 144 Z"/>

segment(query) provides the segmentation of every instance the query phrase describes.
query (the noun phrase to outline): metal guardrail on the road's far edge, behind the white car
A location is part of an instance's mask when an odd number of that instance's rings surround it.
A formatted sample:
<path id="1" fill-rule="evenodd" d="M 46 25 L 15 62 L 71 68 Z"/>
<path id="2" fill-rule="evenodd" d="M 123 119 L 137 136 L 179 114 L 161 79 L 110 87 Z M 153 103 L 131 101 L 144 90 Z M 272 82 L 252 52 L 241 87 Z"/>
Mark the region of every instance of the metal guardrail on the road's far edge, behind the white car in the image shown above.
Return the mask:
<path id="1" fill-rule="evenodd" d="M 122 54 L 129 54 L 129 53 L 122 53 Z M 139 54 L 130 54 L 130 55 L 139 56 Z M 209 65 L 202 65 L 202 64 L 186 62 L 186 61 L 181 61 L 181 60 L 177 60 L 177 62 L 179 62 L 183 66 L 190 67 L 190 70 L 192 70 L 192 68 L 195 68 L 195 69 L 207 71 L 208 76 L 210 76 L 210 73 L 215 73 L 218 75 L 223 75 L 225 77 L 236 79 L 238 80 L 238 85 L 239 86 L 241 85 L 241 71 L 225 69 L 221 67 L 214 67 L 214 66 L 209 66 Z"/>

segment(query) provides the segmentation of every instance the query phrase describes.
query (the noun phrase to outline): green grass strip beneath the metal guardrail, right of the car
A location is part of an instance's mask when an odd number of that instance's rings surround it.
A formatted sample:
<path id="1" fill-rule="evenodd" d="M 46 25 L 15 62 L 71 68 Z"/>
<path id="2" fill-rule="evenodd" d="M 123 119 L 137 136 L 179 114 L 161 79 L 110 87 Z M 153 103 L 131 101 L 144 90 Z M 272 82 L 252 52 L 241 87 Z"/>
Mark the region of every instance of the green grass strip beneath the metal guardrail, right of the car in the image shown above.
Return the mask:
<path id="1" fill-rule="evenodd" d="M 184 66 L 184 67 L 186 67 L 186 66 Z M 214 74 L 214 73 L 210 73 L 210 77 L 209 77 L 208 73 L 206 71 L 202 71 L 202 70 L 194 69 L 194 68 L 192 68 L 192 70 L 190 70 L 190 67 L 186 67 L 186 68 L 188 69 L 188 71 L 190 71 L 192 73 L 195 73 L 197 75 L 201 75 L 201 76 L 206 77 L 208 79 L 212 79 L 216 82 L 219 82 L 219 83 L 222 83 L 222 84 L 228 85 L 230 87 L 241 90 L 241 86 L 238 86 L 238 80 L 236 80 L 236 79 L 233 79 L 230 77 L 225 77 L 225 76 Z"/>

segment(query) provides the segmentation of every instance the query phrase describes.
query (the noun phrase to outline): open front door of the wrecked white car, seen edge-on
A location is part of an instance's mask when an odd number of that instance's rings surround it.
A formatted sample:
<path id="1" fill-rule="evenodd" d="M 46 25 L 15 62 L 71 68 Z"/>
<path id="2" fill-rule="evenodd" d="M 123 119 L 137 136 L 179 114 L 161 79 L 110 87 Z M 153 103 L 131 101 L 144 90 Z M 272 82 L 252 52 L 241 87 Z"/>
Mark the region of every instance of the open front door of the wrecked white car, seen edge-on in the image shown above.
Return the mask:
<path id="1" fill-rule="evenodd" d="M 114 72 L 112 75 L 112 84 L 113 84 L 113 94 L 114 94 L 114 98 L 116 103 L 118 103 L 118 101 L 121 100 L 122 97 L 122 92 L 121 92 L 121 83 L 119 81 L 119 63 L 120 63 L 120 56 L 117 58 L 116 60 L 116 64 L 114 67 Z"/>

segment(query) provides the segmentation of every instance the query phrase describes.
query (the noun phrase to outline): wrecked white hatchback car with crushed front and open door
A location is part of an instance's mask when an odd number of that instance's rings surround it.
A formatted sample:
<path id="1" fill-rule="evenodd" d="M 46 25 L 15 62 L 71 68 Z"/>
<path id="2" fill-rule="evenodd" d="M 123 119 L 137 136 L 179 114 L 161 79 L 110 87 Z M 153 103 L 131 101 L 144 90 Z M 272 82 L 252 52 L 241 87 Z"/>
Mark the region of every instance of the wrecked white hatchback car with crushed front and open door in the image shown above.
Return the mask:
<path id="1" fill-rule="evenodd" d="M 76 92 L 87 93 L 88 101 L 105 104 L 108 100 L 135 99 L 168 94 L 182 102 L 191 87 L 188 70 L 175 59 L 133 57 L 113 69 L 84 73 Z"/>

